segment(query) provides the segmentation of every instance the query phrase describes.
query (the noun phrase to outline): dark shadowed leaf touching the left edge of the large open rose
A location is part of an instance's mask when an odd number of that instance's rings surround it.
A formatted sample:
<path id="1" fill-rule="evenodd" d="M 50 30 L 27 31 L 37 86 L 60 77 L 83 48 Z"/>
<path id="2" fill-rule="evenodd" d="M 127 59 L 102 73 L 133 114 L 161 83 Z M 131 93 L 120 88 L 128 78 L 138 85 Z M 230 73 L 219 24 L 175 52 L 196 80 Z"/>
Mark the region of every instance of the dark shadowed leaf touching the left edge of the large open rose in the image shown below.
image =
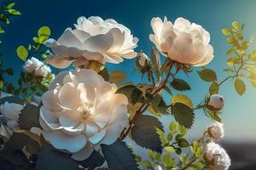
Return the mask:
<path id="1" fill-rule="evenodd" d="M 41 105 L 40 105 L 41 106 Z M 26 104 L 23 110 L 21 110 L 19 118 L 19 127 L 21 129 L 30 130 L 31 127 L 41 127 L 39 123 L 40 107 Z"/>

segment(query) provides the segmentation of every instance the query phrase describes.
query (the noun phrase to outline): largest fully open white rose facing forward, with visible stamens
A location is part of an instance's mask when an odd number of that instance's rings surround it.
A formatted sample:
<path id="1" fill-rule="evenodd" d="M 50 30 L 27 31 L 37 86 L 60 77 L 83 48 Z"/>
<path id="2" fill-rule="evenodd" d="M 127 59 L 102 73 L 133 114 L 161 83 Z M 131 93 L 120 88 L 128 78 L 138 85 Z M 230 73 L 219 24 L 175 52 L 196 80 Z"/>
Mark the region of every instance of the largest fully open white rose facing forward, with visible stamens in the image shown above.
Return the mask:
<path id="1" fill-rule="evenodd" d="M 100 144 L 113 144 L 128 126 L 128 99 L 92 70 L 62 71 L 42 96 L 44 139 L 81 161 Z"/>

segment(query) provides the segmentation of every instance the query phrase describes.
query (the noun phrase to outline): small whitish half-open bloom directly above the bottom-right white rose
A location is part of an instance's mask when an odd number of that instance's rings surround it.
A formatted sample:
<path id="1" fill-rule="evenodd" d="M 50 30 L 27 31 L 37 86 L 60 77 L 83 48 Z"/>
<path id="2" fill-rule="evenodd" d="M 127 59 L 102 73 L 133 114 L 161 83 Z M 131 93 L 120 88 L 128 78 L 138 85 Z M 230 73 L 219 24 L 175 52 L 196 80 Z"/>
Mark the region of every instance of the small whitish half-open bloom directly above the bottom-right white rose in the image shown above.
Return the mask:
<path id="1" fill-rule="evenodd" d="M 224 137 L 224 125 L 221 122 L 214 122 L 208 127 L 208 133 L 212 139 L 222 139 Z"/>

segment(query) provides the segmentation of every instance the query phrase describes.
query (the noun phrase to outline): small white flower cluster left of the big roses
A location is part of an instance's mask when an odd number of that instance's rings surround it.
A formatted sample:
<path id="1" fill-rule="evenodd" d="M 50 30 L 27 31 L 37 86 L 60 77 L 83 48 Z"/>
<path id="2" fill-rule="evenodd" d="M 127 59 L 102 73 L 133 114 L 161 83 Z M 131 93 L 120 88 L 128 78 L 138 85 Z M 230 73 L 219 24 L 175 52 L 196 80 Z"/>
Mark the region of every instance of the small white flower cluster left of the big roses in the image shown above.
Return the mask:
<path id="1" fill-rule="evenodd" d="M 27 59 L 23 68 L 26 72 L 33 73 L 36 77 L 46 77 L 51 72 L 49 66 L 44 65 L 42 61 L 34 57 Z"/>

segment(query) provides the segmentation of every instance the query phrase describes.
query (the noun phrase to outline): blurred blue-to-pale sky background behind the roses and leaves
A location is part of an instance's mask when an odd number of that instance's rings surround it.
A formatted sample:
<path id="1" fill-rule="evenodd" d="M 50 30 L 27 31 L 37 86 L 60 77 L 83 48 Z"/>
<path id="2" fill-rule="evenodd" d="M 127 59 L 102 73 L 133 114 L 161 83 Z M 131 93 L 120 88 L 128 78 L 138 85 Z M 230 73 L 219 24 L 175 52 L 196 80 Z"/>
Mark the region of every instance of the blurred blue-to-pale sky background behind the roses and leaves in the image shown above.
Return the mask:
<path id="1" fill-rule="evenodd" d="M 2 1 L 2 0 L 1 0 Z M 23 62 L 16 56 L 16 48 L 20 44 L 32 42 L 37 35 L 38 28 L 49 26 L 51 37 L 57 38 L 67 27 L 73 27 L 79 16 L 101 16 L 117 20 L 131 29 L 134 36 L 139 38 L 136 51 L 143 50 L 150 54 L 153 43 L 149 41 L 152 33 L 150 20 L 154 16 L 172 22 L 177 17 L 183 17 L 203 26 L 211 34 L 211 44 L 214 48 L 214 59 L 207 67 L 217 71 L 218 78 L 222 80 L 228 74 L 222 70 L 226 68 L 225 56 L 229 45 L 221 33 L 221 28 L 230 27 L 233 20 L 245 23 L 247 38 L 256 37 L 256 1 L 254 0 L 22 0 L 15 1 L 21 16 L 15 17 L 6 33 L 1 36 L 3 44 L 4 65 L 15 69 L 15 77 L 19 76 Z M 253 42 L 253 48 L 256 43 Z M 135 59 L 125 60 L 119 65 L 108 64 L 108 69 L 125 71 L 127 81 L 141 82 L 141 76 L 134 74 Z M 181 74 L 189 82 L 191 91 L 186 93 L 193 100 L 194 105 L 199 104 L 207 94 L 210 84 L 202 82 L 194 68 L 189 77 Z M 9 81 L 14 81 L 9 79 Z M 144 81 L 144 80 L 143 80 Z M 256 169 L 256 88 L 247 83 L 247 91 L 243 96 L 236 94 L 234 82 L 226 82 L 219 94 L 224 96 L 225 108 L 222 118 L 225 127 L 225 137 L 221 141 L 228 151 L 232 166 L 230 169 Z M 166 101 L 170 101 L 166 95 Z M 172 116 L 160 118 L 166 125 L 172 122 Z M 189 139 L 197 139 L 212 121 L 203 114 L 196 112 L 195 124 L 189 130 Z M 132 144 L 132 143 L 131 143 Z M 135 152 L 144 156 L 145 150 L 135 147 Z"/>

